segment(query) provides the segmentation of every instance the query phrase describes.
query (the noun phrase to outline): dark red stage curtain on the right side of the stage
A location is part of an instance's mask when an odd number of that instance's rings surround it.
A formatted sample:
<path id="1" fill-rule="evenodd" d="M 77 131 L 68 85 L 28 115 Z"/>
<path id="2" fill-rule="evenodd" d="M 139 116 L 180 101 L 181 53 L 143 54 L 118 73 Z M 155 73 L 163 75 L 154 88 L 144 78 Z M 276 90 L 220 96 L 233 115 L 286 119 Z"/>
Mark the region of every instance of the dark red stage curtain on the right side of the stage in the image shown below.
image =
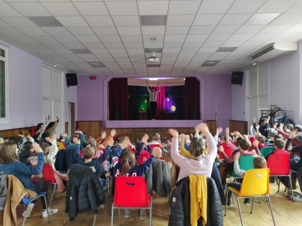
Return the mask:
<path id="1" fill-rule="evenodd" d="M 187 77 L 185 81 L 185 116 L 186 119 L 200 119 L 199 81 Z M 195 117 L 194 117 L 195 116 Z"/>

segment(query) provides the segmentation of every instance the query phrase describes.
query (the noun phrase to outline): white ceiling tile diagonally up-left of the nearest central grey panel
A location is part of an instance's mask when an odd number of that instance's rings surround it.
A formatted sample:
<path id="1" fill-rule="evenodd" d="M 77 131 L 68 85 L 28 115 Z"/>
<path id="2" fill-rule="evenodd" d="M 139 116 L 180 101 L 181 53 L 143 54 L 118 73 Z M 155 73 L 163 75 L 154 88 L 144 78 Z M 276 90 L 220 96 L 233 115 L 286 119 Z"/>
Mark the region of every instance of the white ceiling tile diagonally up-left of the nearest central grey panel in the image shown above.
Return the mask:
<path id="1" fill-rule="evenodd" d="M 138 15 L 136 2 L 106 2 L 112 16 Z"/>

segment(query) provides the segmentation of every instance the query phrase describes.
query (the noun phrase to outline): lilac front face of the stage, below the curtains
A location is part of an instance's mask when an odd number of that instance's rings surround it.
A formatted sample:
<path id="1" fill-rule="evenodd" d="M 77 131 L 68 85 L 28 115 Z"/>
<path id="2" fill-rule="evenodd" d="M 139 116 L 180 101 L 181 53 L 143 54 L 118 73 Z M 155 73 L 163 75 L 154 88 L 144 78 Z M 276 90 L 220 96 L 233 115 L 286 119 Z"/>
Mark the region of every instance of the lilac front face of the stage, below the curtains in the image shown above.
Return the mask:
<path id="1" fill-rule="evenodd" d="M 104 128 L 157 128 L 157 127 L 194 127 L 203 120 L 108 120 L 102 121 Z"/>

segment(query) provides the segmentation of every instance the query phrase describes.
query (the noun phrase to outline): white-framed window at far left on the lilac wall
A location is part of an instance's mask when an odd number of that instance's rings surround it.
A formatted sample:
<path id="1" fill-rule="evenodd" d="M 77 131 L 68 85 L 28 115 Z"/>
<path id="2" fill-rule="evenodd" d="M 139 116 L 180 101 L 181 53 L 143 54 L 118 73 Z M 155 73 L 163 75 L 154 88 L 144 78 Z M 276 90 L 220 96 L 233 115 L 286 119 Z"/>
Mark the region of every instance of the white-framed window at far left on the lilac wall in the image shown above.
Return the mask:
<path id="1" fill-rule="evenodd" d="M 0 45 L 0 122 L 8 120 L 8 48 Z"/>

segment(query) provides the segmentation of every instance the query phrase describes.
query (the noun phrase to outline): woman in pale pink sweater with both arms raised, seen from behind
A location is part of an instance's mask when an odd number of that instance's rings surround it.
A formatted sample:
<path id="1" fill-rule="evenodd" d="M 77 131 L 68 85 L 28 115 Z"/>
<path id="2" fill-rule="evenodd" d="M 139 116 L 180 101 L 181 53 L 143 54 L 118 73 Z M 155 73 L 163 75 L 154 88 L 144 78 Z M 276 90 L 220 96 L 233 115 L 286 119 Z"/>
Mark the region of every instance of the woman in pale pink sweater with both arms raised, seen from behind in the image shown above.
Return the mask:
<path id="1" fill-rule="evenodd" d="M 211 177 L 213 163 L 217 154 L 217 147 L 206 123 L 200 123 L 196 127 L 206 137 L 209 150 L 208 154 L 204 156 L 205 139 L 202 137 L 193 137 L 189 147 L 189 152 L 193 156 L 193 159 L 183 157 L 179 154 L 178 132 L 175 129 L 169 129 L 169 132 L 173 137 L 171 145 L 171 157 L 180 167 L 178 181 L 191 174 L 201 174 Z"/>

